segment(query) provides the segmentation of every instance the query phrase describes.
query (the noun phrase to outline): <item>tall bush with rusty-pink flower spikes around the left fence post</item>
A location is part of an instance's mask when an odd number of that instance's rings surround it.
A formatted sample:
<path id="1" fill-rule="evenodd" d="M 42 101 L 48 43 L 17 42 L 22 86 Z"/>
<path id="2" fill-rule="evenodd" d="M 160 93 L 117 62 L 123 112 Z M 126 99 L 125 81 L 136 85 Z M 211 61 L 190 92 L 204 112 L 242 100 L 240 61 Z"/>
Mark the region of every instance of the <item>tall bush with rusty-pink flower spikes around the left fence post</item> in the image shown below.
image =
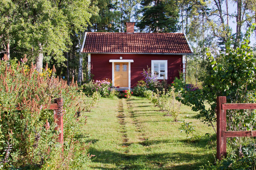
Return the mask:
<path id="1" fill-rule="evenodd" d="M 77 84 L 54 77 L 46 68 L 42 73 L 31 64 L 16 60 L 0 63 L 0 166 L 12 168 L 84 169 L 90 159 L 86 143 L 86 117 L 76 112 L 83 110 L 79 103 Z M 64 100 L 64 146 L 56 140 L 53 111 L 43 106 L 53 99 Z M 21 110 L 16 110 L 16 105 Z M 80 108 L 79 108 L 80 107 Z"/>

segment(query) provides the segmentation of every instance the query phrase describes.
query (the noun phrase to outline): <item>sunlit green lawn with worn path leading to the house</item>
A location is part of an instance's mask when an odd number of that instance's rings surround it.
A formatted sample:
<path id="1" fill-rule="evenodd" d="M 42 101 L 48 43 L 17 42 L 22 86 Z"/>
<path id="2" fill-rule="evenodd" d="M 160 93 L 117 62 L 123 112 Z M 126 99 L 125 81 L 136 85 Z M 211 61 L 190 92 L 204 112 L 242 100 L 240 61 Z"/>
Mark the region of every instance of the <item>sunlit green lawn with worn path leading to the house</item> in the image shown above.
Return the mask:
<path id="1" fill-rule="evenodd" d="M 196 112 L 182 106 L 181 116 L 196 126 L 194 134 L 214 134 L 196 119 Z M 180 122 L 164 116 L 146 98 L 101 98 L 96 108 L 88 112 L 87 128 L 90 134 L 90 154 L 96 155 L 90 169 L 198 169 L 213 162 L 216 142 L 211 137 L 189 143 L 180 133 Z M 215 135 L 216 136 L 216 135 Z"/>

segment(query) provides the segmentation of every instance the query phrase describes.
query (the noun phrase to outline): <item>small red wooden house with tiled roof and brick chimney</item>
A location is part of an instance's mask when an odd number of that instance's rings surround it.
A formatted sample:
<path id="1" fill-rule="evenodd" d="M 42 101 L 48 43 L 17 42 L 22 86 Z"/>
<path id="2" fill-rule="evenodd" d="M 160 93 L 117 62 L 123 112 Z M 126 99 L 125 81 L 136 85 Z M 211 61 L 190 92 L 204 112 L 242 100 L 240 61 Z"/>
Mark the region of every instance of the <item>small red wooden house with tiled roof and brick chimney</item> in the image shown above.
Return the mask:
<path id="1" fill-rule="evenodd" d="M 114 86 L 131 88 L 143 80 L 143 68 L 151 68 L 158 80 L 171 83 L 185 72 L 185 55 L 192 54 L 183 33 L 86 32 L 81 53 L 88 54 L 94 80 L 111 79 Z"/>

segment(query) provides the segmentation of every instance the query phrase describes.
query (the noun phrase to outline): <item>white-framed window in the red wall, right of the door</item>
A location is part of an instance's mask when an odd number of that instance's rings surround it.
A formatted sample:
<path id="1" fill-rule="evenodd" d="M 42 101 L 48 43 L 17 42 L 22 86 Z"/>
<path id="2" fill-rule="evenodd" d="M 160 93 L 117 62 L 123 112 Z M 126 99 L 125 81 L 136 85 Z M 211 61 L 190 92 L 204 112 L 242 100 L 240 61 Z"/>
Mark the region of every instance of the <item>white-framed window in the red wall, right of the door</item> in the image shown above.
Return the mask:
<path id="1" fill-rule="evenodd" d="M 167 79 L 167 60 L 151 60 L 151 73 L 158 80 Z"/>

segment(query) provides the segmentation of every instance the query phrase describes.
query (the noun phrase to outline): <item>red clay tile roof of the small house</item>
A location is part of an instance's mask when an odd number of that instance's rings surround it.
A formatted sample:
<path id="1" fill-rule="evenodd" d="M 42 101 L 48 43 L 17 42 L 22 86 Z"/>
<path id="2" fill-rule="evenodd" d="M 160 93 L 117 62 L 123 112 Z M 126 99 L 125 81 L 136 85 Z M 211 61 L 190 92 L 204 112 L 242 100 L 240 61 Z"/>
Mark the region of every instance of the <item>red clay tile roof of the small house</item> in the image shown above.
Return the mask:
<path id="1" fill-rule="evenodd" d="M 87 32 L 83 53 L 192 53 L 183 33 Z"/>

